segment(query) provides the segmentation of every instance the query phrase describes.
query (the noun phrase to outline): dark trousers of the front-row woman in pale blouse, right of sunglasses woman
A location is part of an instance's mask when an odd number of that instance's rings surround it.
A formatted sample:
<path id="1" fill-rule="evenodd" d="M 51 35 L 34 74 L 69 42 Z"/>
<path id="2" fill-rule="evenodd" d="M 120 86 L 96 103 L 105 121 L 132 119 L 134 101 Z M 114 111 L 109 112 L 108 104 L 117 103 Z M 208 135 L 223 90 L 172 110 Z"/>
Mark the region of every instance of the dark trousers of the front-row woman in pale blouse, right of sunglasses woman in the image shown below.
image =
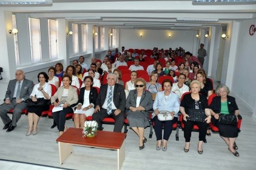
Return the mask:
<path id="1" fill-rule="evenodd" d="M 173 117 L 172 120 L 160 121 L 158 117 L 153 117 L 153 122 L 155 123 L 155 136 L 157 140 L 162 140 L 162 128 L 164 126 L 164 140 L 169 140 L 170 134 L 172 134 L 172 125 L 178 121 L 178 117 Z"/>

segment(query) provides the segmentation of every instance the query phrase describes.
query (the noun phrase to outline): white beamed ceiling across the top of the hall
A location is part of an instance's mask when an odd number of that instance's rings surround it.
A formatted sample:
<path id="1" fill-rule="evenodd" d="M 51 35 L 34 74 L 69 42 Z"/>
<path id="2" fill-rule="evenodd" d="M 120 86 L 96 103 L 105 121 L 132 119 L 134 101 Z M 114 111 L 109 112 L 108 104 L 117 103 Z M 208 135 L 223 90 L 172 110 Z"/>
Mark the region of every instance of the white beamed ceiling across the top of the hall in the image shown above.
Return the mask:
<path id="1" fill-rule="evenodd" d="M 256 18 L 256 5 L 193 5 L 192 1 L 53 0 L 52 6 L 10 6 L 0 11 L 29 13 L 35 18 L 69 18 L 80 24 L 135 29 L 194 29 Z M 90 18 L 100 19 L 90 19 Z M 73 19 L 72 19 L 73 18 Z M 218 22 L 177 21 L 177 18 Z M 178 24 L 178 25 L 177 25 Z"/>

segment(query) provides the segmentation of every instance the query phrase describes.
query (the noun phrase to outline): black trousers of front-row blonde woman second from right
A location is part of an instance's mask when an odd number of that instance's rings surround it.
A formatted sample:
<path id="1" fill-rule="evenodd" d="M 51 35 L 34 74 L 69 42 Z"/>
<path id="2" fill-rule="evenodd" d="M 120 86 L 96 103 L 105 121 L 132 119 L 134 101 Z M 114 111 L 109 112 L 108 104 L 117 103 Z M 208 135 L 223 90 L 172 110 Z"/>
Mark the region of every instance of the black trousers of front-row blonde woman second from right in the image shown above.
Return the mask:
<path id="1" fill-rule="evenodd" d="M 194 125 L 197 125 L 199 128 L 199 140 L 203 141 L 206 137 L 206 131 L 208 124 L 206 122 L 193 122 L 190 120 L 184 121 L 184 138 L 186 142 L 190 142 L 191 132 L 194 127 Z"/>

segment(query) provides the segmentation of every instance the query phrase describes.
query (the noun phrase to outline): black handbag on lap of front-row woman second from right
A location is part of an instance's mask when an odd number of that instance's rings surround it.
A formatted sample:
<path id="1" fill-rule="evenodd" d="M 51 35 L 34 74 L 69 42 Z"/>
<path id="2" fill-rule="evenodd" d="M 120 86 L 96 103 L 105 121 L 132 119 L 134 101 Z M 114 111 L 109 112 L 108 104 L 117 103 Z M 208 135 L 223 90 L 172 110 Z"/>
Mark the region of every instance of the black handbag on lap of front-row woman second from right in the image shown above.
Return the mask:
<path id="1" fill-rule="evenodd" d="M 204 119 L 206 119 L 205 111 L 201 110 L 201 105 L 199 106 L 200 109 L 190 109 L 189 110 L 189 117 L 187 117 L 187 120 L 193 121 L 193 122 L 205 122 Z M 195 108 L 195 104 L 194 104 Z"/>

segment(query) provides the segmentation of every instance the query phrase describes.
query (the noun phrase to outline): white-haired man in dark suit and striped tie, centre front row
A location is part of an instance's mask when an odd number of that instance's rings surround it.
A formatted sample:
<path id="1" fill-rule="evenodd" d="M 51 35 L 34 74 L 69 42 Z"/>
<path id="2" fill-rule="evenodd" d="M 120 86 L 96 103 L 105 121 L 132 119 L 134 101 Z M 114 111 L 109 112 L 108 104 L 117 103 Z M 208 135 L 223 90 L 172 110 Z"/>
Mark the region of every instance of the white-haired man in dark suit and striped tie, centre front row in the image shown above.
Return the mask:
<path id="1" fill-rule="evenodd" d="M 116 80 L 115 74 L 107 74 L 107 84 L 102 85 L 99 90 L 92 119 L 98 123 L 98 129 L 102 129 L 101 121 L 106 117 L 113 117 L 115 119 L 113 131 L 121 132 L 124 125 L 126 94 L 123 85 L 116 83 Z"/>

